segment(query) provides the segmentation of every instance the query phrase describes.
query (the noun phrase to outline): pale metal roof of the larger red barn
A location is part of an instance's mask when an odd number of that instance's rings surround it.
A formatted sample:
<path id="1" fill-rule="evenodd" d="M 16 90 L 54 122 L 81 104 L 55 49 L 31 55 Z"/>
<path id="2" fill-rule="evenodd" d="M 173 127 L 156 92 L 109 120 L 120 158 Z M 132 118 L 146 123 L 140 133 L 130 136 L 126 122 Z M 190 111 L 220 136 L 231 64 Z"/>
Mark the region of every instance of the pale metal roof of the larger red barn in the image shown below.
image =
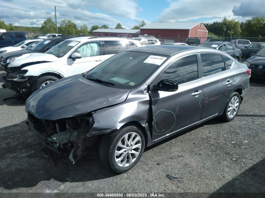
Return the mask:
<path id="1" fill-rule="evenodd" d="M 190 29 L 201 22 L 156 22 L 149 23 L 140 29 Z"/>

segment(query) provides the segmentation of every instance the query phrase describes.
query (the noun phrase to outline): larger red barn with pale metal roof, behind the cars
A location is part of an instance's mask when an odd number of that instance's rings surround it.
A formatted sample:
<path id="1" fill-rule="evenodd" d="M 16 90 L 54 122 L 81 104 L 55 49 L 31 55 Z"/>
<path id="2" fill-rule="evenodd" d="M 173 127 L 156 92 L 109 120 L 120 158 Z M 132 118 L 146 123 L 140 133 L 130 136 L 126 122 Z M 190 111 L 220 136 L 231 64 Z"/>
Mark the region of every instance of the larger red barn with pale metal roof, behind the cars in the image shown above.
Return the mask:
<path id="1" fill-rule="evenodd" d="M 168 37 L 175 42 L 184 42 L 188 37 L 197 37 L 204 42 L 208 31 L 202 22 L 158 22 L 140 28 L 141 35 L 154 35 L 156 38 Z"/>

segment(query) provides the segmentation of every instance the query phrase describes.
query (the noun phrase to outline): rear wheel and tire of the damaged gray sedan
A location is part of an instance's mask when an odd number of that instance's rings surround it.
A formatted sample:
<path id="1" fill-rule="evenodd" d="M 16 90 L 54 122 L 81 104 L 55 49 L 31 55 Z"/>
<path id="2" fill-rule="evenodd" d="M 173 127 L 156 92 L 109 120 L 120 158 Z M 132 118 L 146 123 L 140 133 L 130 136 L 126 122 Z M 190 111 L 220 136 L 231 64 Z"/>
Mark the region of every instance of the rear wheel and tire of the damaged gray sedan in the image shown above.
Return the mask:
<path id="1" fill-rule="evenodd" d="M 236 104 L 236 105 L 234 105 Z M 229 108 L 232 108 L 229 110 Z M 237 109 L 236 109 L 237 108 Z M 225 106 L 225 110 L 223 114 L 221 115 L 221 118 L 225 122 L 230 122 L 232 119 L 234 119 L 239 111 L 240 108 L 240 95 L 237 92 L 234 92 L 230 95 L 228 102 Z"/>

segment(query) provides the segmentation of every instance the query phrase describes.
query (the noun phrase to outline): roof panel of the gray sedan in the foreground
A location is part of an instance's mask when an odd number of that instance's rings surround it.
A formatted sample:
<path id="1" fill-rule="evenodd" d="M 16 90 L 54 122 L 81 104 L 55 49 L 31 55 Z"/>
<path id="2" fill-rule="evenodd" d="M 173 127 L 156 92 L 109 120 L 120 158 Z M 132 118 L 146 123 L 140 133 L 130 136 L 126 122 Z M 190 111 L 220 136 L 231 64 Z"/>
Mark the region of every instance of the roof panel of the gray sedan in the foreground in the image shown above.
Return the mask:
<path id="1" fill-rule="evenodd" d="M 192 49 L 205 49 L 204 47 L 190 46 L 190 45 L 149 45 L 138 48 L 131 48 L 126 51 L 143 52 L 143 53 L 154 53 L 166 56 L 172 56 L 178 52 Z M 211 51 L 213 49 L 207 48 Z M 215 50 L 213 50 L 215 51 Z"/>

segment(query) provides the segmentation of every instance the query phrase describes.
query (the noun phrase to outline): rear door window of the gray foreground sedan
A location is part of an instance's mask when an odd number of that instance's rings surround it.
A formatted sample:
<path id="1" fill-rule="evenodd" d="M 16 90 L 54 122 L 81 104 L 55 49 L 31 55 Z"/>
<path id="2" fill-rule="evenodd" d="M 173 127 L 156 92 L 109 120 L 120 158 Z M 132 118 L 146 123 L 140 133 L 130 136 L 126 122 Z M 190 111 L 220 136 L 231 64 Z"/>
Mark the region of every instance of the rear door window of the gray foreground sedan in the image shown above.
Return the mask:
<path id="1" fill-rule="evenodd" d="M 221 55 L 212 53 L 201 53 L 203 74 L 209 76 L 225 71 L 225 62 Z"/>

